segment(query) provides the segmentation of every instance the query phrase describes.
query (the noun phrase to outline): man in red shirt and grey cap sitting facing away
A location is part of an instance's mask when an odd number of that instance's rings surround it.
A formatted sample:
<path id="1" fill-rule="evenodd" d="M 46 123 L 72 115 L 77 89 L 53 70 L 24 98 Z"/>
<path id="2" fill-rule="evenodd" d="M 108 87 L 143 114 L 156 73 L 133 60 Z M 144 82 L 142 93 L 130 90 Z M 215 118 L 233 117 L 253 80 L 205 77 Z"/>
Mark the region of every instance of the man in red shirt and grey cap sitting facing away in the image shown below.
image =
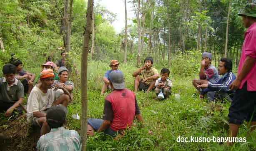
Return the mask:
<path id="1" fill-rule="evenodd" d="M 143 122 L 135 94 L 125 89 L 123 72 L 112 71 L 109 75 L 110 87 L 113 92 L 105 98 L 103 120 L 88 119 L 87 134 L 94 135 L 94 131 L 104 132 L 110 136 L 122 136 L 125 129 L 129 129 L 134 117 L 137 121 Z"/>

